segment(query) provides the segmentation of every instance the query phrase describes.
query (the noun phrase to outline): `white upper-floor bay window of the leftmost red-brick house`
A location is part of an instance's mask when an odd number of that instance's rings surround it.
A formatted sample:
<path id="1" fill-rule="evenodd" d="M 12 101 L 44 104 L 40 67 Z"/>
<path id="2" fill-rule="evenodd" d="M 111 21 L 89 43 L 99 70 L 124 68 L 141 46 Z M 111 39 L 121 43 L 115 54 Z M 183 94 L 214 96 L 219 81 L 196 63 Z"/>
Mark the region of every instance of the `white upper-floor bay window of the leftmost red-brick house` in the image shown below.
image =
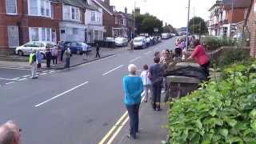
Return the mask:
<path id="1" fill-rule="evenodd" d="M 31 10 L 30 10 L 30 1 L 36 1 L 38 6 L 37 6 L 37 14 L 31 14 Z M 41 3 L 42 0 L 28 0 L 27 4 L 28 4 L 28 15 L 30 16 L 37 16 L 37 17 L 46 17 L 46 18 L 51 18 L 51 2 L 49 0 L 43 0 L 43 4 Z M 43 10 L 44 10 L 44 14 L 41 13 L 41 7 L 43 5 Z M 46 15 L 46 10 L 49 10 L 49 14 Z"/>

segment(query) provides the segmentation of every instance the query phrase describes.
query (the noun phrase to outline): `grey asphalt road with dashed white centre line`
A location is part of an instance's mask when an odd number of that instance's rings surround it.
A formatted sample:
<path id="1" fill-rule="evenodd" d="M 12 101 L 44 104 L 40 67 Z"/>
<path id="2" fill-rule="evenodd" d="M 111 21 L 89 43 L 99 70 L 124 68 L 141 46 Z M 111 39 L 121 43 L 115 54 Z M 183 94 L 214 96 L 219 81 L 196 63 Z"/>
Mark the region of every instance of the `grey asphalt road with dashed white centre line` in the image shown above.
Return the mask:
<path id="1" fill-rule="evenodd" d="M 154 51 L 174 49 L 174 38 L 145 50 L 124 51 L 71 70 L 47 71 L 36 80 L 28 70 L 2 69 L 0 123 L 13 119 L 24 144 L 95 144 L 125 113 L 122 77 L 134 63 L 153 64 Z M 5 83 L 8 80 L 0 79 Z"/>

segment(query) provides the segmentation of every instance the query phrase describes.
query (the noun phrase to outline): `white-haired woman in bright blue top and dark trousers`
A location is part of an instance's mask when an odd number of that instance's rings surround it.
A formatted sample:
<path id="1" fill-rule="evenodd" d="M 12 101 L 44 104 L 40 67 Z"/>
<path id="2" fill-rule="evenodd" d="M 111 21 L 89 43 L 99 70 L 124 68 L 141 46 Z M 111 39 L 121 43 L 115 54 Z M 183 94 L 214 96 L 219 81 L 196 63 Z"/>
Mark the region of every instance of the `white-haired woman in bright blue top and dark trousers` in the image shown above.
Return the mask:
<path id="1" fill-rule="evenodd" d="M 130 118 L 129 138 L 136 138 L 138 133 L 138 110 L 142 101 L 142 78 L 136 75 L 137 67 L 134 64 L 128 66 L 129 75 L 123 78 L 124 102 Z"/>

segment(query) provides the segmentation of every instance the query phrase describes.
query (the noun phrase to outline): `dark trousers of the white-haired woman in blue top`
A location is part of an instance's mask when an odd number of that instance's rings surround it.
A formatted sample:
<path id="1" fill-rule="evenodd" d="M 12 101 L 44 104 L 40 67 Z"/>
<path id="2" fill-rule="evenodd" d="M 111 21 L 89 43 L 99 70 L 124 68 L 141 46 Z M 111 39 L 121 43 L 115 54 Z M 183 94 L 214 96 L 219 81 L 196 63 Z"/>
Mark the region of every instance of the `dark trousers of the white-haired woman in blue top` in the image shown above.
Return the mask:
<path id="1" fill-rule="evenodd" d="M 126 105 L 130 119 L 130 136 L 136 138 L 138 133 L 138 110 L 140 103 L 134 105 Z"/>

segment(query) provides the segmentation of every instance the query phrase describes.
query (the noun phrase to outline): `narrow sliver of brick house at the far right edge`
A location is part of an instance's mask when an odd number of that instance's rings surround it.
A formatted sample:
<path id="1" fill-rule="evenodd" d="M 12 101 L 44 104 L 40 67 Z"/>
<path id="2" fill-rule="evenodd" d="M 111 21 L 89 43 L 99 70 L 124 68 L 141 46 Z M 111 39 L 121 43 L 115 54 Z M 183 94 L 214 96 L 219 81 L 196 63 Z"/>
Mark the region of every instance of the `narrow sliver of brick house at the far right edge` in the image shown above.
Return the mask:
<path id="1" fill-rule="evenodd" d="M 256 0 L 250 7 L 247 28 L 250 31 L 250 56 L 256 58 Z"/>

